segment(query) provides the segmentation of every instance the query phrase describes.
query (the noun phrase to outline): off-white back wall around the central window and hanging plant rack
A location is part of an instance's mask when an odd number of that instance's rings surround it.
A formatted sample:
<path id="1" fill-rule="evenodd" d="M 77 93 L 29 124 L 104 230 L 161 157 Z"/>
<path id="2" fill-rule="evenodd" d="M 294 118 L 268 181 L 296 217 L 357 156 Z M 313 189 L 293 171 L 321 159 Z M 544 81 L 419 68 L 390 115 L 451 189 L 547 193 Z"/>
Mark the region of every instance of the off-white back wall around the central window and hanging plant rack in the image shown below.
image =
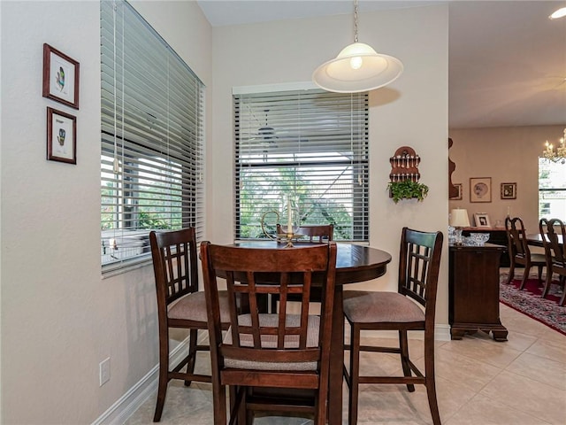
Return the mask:
<path id="1" fill-rule="evenodd" d="M 333 16 L 214 29 L 214 126 L 208 163 L 208 235 L 233 239 L 233 87 L 310 81 L 312 71 L 352 42 L 352 17 Z M 360 284 L 396 290 L 403 226 L 447 228 L 447 8 L 423 7 L 360 15 L 360 42 L 400 58 L 405 72 L 370 96 L 371 246 L 392 253 L 385 277 Z M 400 146 L 422 157 L 423 203 L 395 205 L 386 184 L 389 158 Z M 446 232 L 445 232 L 446 233 Z M 438 322 L 447 323 L 447 252 L 440 277 Z"/>

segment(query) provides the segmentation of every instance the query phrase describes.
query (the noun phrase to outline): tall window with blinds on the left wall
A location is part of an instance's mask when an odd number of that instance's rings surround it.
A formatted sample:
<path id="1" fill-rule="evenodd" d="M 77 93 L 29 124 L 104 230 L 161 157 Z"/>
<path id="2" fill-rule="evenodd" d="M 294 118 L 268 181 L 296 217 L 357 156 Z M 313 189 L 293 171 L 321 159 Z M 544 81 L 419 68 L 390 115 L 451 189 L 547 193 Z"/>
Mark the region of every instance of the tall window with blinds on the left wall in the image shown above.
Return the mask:
<path id="1" fill-rule="evenodd" d="M 203 234 L 203 83 L 126 2 L 101 2 L 103 272 L 149 259 L 149 231 Z"/>

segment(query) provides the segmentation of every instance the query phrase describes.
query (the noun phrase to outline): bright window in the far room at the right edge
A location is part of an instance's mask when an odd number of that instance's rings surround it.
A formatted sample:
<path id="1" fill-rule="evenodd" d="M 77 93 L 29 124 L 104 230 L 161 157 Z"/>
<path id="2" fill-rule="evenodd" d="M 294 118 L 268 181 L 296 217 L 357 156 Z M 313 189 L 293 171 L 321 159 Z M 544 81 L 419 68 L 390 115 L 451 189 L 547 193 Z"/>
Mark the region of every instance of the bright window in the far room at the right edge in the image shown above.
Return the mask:
<path id="1" fill-rule="evenodd" d="M 566 164 L 539 158 L 539 220 L 566 220 Z"/>

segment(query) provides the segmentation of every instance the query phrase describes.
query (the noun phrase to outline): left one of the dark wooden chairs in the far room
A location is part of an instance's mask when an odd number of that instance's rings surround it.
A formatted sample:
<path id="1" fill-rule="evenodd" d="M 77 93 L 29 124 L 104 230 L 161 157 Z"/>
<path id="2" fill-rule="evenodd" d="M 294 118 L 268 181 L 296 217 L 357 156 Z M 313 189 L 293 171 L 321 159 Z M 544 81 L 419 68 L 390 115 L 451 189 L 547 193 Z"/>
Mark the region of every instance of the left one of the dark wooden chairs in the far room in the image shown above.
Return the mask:
<path id="1" fill-rule="evenodd" d="M 531 267 L 535 266 L 539 269 L 539 283 L 542 284 L 542 269 L 547 266 L 547 258 L 545 254 L 531 252 L 527 241 L 526 231 L 524 229 L 523 220 L 520 217 L 505 219 L 505 230 L 507 231 L 507 240 L 509 243 L 509 279 L 507 283 L 513 282 L 515 279 L 516 265 L 524 267 L 523 279 L 519 290 L 524 289 L 524 284 L 529 278 Z"/>

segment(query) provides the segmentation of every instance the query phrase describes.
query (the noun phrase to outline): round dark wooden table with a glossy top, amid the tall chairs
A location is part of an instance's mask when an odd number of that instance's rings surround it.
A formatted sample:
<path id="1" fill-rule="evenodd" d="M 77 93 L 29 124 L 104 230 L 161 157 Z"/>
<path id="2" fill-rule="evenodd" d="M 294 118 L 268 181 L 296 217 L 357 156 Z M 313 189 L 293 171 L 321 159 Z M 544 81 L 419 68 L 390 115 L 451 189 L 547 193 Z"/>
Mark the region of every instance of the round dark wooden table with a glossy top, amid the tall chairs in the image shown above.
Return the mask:
<path id="1" fill-rule="evenodd" d="M 297 246 L 300 242 L 294 243 Z M 287 249 L 278 241 L 240 241 L 234 246 Z M 342 423 L 342 370 L 344 365 L 343 288 L 348 283 L 366 282 L 386 274 L 391 262 L 389 252 L 356 243 L 336 243 L 336 287 L 334 290 L 333 328 L 330 352 L 328 423 Z M 315 282 L 316 284 L 316 282 Z"/>

